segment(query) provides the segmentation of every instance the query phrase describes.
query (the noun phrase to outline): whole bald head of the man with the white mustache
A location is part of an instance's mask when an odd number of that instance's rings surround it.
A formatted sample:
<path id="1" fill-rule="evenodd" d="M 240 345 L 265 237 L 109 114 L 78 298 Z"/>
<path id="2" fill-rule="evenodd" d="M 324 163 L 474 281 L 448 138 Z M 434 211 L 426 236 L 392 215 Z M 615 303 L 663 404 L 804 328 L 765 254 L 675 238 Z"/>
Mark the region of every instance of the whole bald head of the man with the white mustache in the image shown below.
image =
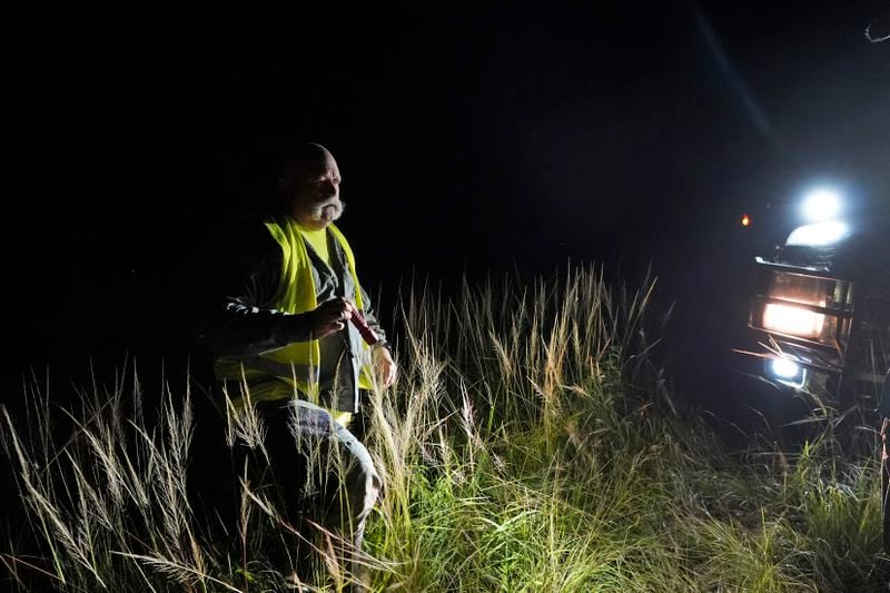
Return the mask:
<path id="1" fill-rule="evenodd" d="M 322 145 L 299 145 L 281 159 L 278 194 L 285 211 L 312 230 L 325 228 L 344 210 L 337 161 Z"/>

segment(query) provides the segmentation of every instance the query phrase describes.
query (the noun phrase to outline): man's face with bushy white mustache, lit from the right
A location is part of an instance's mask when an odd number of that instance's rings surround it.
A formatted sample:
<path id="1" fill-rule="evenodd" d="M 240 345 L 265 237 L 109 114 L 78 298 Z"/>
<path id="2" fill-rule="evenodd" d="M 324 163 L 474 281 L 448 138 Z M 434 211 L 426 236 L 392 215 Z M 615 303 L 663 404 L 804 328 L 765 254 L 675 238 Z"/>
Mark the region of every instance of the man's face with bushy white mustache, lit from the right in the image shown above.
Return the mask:
<path id="1" fill-rule="evenodd" d="M 308 229 L 323 229 L 343 214 L 340 171 L 329 152 L 316 162 L 295 166 L 284 190 L 290 216 Z"/>

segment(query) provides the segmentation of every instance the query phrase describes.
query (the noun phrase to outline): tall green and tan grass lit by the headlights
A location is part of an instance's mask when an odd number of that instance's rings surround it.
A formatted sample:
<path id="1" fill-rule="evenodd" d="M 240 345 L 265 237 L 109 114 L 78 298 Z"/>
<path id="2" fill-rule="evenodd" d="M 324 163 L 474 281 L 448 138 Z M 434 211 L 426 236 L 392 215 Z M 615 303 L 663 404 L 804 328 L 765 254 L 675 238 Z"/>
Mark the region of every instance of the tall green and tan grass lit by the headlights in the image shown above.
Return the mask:
<path id="1" fill-rule="evenodd" d="M 729 451 L 652 363 L 654 288 L 576 268 L 402 298 L 400 377 L 367 406 L 385 484 L 366 534 L 374 590 L 884 590 L 874 431 L 858 431 L 857 447 L 827 429 L 793 452 Z M 8 582 L 285 590 L 267 552 L 290 526 L 246 475 L 228 537 L 189 495 L 188 386 L 155 394 L 152 414 L 127 377 L 81 391 L 78 409 L 33 388 L 27 417 L 4 412 L 37 544 L 4 534 Z M 258 432 L 230 416 L 228 445 Z M 306 590 L 348 582 L 335 557 Z"/>

